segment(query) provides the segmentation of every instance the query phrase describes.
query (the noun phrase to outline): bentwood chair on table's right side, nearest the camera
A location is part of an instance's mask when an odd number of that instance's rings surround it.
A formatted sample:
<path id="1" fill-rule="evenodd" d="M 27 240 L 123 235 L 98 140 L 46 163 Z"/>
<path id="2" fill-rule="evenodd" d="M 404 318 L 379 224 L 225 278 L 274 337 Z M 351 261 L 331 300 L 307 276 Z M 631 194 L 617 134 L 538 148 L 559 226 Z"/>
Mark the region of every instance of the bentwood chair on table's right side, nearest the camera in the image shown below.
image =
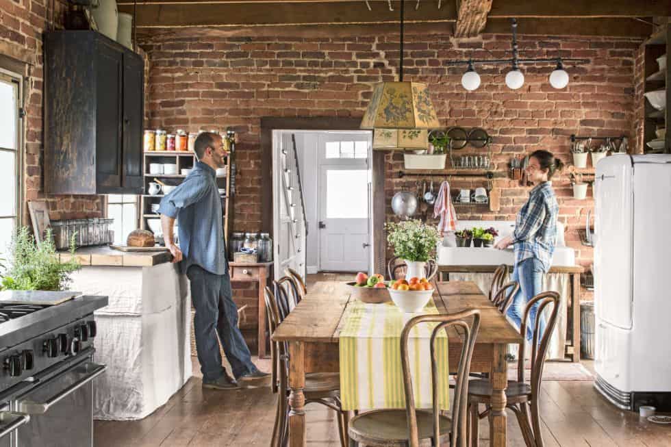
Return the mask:
<path id="1" fill-rule="evenodd" d="M 545 331 L 540 334 L 540 318 L 536 318 L 533 328 L 531 342 L 531 382 L 524 381 L 524 355 L 520 355 L 517 366 L 517 380 L 508 381 L 505 390 L 507 407 L 511 409 L 520 424 L 522 436 L 527 447 L 543 447 L 543 435 L 540 425 L 540 414 L 538 409 L 538 398 L 540 385 L 543 377 L 543 366 L 545 355 L 548 351 L 550 336 L 557 324 L 559 311 L 559 294 L 557 292 L 543 292 L 534 296 L 524 309 L 524 318 L 520 327 L 520 334 L 524 342 L 520 343 L 520 353 L 524 353 L 524 345 L 527 344 L 527 320 L 531 307 L 536 303 L 537 315 L 540 316 L 548 305 L 552 305 L 550 318 L 546 323 Z M 540 343 L 539 343 L 540 337 Z M 479 420 L 488 416 L 492 403 L 492 383 L 488 380 L 473 380 L 468 383 L 468 425 L 470 426 L 471 446 L 477 447 L 479 441 Z M 479 404 L 484 404 L 486 409 L 482 413 Z M 529 410 L 531 409 L 531 416 Z"/>

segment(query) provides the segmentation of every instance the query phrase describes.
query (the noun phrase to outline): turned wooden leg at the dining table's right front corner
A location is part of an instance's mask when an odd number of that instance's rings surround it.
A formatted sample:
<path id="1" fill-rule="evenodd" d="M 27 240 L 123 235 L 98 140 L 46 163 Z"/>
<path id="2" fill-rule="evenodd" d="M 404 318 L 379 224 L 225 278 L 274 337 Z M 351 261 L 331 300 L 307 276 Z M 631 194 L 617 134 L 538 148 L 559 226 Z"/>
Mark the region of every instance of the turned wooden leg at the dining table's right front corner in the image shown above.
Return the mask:
<path id="1" fill-rule="evenodd" d="M 507 416 L 505 406 L 505 388 L 508 385 L 507 362 L 505 353 L 507 344 L 494 345 L 494 359 L 492 361 L 492 411 L 490 411 L 490 446 L 505 447 Z M 520 353 L 524 355 L 524 353 Z"/>

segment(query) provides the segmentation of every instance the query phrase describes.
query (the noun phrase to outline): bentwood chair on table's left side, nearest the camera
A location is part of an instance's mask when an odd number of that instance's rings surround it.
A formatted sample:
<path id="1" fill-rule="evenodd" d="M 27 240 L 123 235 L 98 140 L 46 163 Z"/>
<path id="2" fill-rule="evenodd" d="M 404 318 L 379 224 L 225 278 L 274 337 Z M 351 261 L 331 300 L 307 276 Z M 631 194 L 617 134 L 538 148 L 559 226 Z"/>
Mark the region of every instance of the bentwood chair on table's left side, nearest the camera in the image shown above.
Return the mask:
<path id="1" fill-rule="evenodd" d="M 278 294 L 291 293 L 287 291 L 286 286 L 291 281 L 273 281 L 273 288 Z M 284 292 L 282 292 L 284 291 Z M 266 309 L 268 316 L 268 327 L 270 333 L 275 332 L 275 329 L 281 321 L 286 318 L 288 312 L 283 314 L 283 303 L 277 300 L 277 294 L 273 293 L 273 289 L 266 286 L 264 290 L 264 298 L 266 301 Z M 290 359 L 288 355 L 288 346 L 284 342 L 273 342 L 273 383 L 277 389 L 277 411 L 275 413 L 275 425 L 273 426 L 273 439 L 271 439 L 271 447 L 285 447 L 288 445 L 289 437 L 289 411 L 288 404 L 289 388 L 288 388 L 288 374 Z M 305 404 L 319 403 L 333 409 L 338 413 L 338 432 L 340 435 L 341 447 L 347 446 L 347 424 L 349 421 L 349 413 L 342 411 L 340 405 L 340 374 L 338 373 L 311 373 L 305 375 L 305 387 L 303 388 L 305 394 Z"/>

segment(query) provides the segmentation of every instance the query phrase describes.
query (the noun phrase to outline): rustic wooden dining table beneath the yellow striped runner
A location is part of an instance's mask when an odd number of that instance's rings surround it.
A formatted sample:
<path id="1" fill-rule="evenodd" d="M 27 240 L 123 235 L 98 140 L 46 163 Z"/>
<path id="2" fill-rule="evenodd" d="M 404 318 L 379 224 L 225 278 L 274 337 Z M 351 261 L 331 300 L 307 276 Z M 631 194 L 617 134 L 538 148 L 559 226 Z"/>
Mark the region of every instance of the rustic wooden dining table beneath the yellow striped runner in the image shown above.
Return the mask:
<path id="1" fill-rule="evenodd" d="M 481 326 L 473 352 L 471 371 L 489 372 L 492 379 L 492 411 L 490 412 L 490 446 L 506 445 L 507 362 L 509 343 L 520 343 L 522 337 L 481 290 L 470 281 L 441 283 L 433 295 L 438 311 L 457 312 L 480 309 Z M 316 283 L 303 301 L 277 327 L 273 340 L 288 342 L 290 369 L 289 443 L 304 447 L 305 434 L 305 374 L 308 372 L 339 372 L 338 339 L 342 316 L 350 301 L 344 283 Z M 450 370 L 456 372 L 461 353 L 461 340 L 454 331 L 449 333 Z"/>

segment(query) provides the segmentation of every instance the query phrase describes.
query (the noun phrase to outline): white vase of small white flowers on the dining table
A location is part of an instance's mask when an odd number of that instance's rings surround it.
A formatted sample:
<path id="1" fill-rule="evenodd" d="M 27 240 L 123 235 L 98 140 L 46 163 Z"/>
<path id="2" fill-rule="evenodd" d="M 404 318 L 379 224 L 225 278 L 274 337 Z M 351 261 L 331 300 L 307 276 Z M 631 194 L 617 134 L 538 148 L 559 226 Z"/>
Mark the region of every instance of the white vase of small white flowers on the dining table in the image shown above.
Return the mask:
<path id="1" fill-rule="evenodd" d="M 401 257 L 407 265 L 405 277 L 425 277 L 425 265 L 442 240 L 438 229 L 421 220 L 403 220 L 386 223 L 385 230 L 387 241 L 394 247 L 394 255 Z"/>

